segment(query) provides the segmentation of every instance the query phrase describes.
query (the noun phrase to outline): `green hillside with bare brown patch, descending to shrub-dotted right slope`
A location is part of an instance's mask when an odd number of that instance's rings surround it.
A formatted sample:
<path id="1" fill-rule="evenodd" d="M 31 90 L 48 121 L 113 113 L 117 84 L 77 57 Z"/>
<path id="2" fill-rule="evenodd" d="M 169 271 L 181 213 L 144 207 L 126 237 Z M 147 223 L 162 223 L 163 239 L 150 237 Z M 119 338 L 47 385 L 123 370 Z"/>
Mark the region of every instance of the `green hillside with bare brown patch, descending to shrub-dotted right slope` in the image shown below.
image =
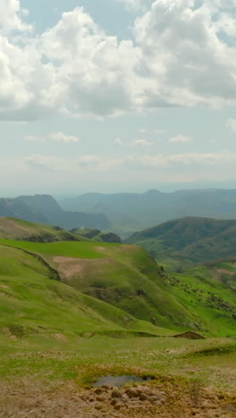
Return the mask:
<path id="1" fill-rule="evenodd" d="M 128 314 L 175 330 L 235 336 L 235 295 L 205 278 L 167 275 L 139 247 L 95 242 L 38 244 L 1 240 L 42 255 L 72 287 Z M 59 258 L 58 258 L 59 257 Z M 71 274 L 67 274 L 71 270 Z M 208 300 L 215 294 L 214 300 Z"/>

